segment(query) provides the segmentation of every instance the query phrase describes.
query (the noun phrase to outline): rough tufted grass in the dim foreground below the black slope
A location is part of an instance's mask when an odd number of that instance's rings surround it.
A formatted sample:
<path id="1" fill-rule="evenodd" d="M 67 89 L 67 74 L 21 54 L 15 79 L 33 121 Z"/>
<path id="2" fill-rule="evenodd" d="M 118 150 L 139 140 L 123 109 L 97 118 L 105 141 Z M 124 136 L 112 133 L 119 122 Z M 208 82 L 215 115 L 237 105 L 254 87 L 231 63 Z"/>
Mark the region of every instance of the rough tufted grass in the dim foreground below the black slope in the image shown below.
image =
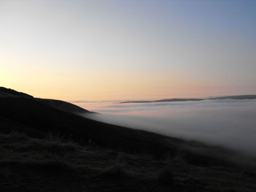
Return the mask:
<path id="1" fill-rule="evenodd" d="M 17 132 L 0 144 L 0 191 L 256 191 L 253 169 L 195 166 L 181 153 L 156 159 Z"/>

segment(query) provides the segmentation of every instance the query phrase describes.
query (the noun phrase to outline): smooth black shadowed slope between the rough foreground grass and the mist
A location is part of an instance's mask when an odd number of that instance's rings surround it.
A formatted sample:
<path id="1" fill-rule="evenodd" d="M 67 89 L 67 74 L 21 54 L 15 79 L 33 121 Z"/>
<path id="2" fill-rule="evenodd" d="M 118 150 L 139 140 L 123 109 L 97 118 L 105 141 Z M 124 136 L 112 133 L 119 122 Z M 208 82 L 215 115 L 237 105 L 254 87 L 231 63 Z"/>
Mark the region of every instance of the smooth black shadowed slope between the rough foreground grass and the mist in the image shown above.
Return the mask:
<path id="1" fill-rule="evenodd" d="M 154 153 L 157 156 L 166 153 L 175 155 L 178 151 L 183 151 L 187 160 L 195 164 L 208 164 L 217 159 L 222 161 L 223 154 L 233 154 L 199 142 L 184 141 L 83 118 L 75 114 L 79 111 L 83 110 L 64 101 L 34 99 L 31 96 L 6 96 L 0 99 L 0 131 L 21 131 L 39 138 L 49 133 L 59 134 L 80 144 L 94 142 L 101 147 Z"/>

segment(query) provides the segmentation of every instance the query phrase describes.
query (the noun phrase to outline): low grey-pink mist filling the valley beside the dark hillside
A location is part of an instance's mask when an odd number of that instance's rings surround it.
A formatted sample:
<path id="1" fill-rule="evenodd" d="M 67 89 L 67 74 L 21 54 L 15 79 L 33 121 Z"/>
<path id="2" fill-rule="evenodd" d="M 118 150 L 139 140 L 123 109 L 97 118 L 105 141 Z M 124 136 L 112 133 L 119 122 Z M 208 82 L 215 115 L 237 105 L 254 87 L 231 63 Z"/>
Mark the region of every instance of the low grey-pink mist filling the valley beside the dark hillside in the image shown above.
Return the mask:
<path id="1" fill-rule="evenodd" d="M 256 156 L 256 99 L 118 104 L 102 102 L 86 117 Z"/>

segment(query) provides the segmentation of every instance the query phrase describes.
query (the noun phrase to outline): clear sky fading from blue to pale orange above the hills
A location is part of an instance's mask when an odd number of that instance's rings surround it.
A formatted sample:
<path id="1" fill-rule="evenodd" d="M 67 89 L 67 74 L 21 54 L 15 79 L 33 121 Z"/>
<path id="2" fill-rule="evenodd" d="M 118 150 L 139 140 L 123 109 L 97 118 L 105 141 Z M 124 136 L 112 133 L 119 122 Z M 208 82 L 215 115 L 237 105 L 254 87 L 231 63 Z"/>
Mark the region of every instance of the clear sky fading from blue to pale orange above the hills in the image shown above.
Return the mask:
<path id="1" fill-rule="evenodd" d="M 255 0 L 0 0 L 0 86 L 36 97 L 256 94 Z"/>

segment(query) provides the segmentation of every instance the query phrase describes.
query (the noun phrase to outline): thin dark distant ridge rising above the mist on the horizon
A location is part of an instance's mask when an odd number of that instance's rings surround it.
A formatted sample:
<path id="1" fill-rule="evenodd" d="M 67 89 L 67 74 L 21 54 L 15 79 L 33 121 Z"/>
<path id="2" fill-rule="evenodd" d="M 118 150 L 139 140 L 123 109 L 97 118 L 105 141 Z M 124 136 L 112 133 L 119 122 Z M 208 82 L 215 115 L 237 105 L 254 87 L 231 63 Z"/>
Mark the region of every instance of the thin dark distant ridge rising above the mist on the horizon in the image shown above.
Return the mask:
<path id="1" fill-rule="evenodd" d="M 175 101 L 203 101 L 203 100 L 217 100 L 217 99 L 256 99 L 256 95 L 240 95 L 240 96 L 217 96 L 209 99 L 190 98 L 190 99 L 160 99 L 154 101 L 122 101 L 121 104 L 127 103 L 157 103 L 157 102 L 175 102 Z"/>

